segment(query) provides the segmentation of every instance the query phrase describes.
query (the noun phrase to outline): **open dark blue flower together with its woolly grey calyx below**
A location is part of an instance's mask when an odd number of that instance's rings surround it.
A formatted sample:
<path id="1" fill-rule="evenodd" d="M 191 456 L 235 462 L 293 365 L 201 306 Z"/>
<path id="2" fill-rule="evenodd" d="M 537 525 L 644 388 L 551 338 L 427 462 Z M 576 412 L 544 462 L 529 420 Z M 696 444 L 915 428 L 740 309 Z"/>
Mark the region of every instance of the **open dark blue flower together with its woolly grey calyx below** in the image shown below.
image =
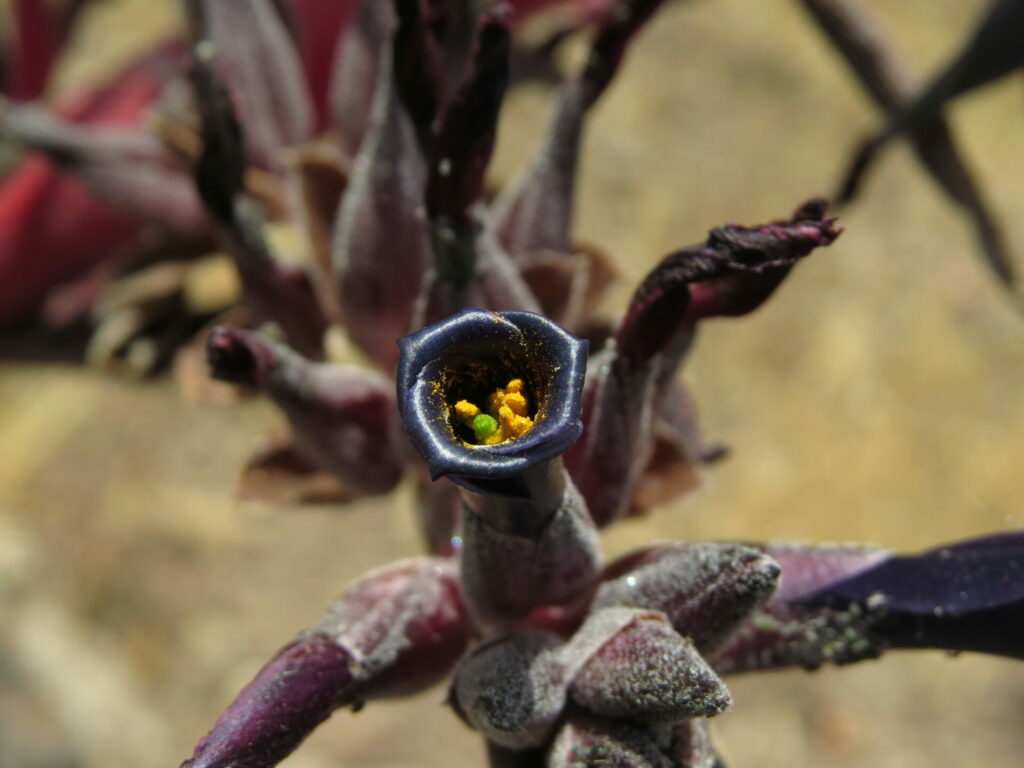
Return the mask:
<path id="1" fill-rule="evenodd" d="M 558 457 L 582 429 L 587 343 L 541 315 L 466 310 L 398 345 L 406 430 L 431 476 L 462 486 L 460 565 L 474 616 L 514 622 L 581 598 L 600 545 Z M 493 444 L 468 442 L 457 403 L 487 402 L 514 380 L 532 426 Z"/>

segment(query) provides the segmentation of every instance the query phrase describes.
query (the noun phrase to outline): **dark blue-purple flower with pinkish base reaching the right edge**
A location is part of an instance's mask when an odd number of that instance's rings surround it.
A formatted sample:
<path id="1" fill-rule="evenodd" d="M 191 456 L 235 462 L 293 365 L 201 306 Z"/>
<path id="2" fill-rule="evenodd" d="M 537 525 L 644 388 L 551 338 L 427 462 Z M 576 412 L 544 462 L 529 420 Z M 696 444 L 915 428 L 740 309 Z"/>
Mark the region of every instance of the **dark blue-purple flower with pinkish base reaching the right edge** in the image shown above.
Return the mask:
<path id="1" fill-rule="evenodd" d="M 721 672 L 941 648 L 1024 658 L 1024 532 L 938 547 L 768 547 L 779 590 L 715 658 Z"/>

